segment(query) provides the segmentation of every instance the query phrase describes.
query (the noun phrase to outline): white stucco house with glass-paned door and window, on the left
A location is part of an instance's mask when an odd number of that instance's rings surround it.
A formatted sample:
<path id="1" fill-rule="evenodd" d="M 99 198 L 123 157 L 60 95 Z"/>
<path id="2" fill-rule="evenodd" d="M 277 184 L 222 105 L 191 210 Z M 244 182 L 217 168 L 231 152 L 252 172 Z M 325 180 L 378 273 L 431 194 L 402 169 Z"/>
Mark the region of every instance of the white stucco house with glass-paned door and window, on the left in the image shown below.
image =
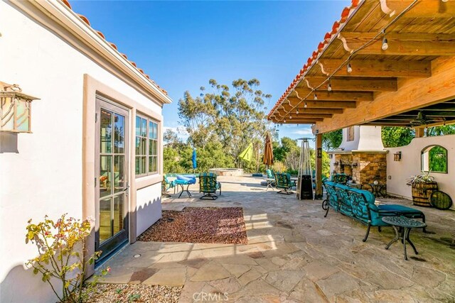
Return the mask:
<path id="1" fill-rule="evenodd" d="M 60 0 L 0 1 L 0 84 L 37 98 L 25 132 L 1 111 L 0 302 L 55 302 L 24 265 L 36 256 L 28 219 L 91 216 L 89 248 L 103 258 L 134 243 L 161 217 L 171 99 Z"/>

